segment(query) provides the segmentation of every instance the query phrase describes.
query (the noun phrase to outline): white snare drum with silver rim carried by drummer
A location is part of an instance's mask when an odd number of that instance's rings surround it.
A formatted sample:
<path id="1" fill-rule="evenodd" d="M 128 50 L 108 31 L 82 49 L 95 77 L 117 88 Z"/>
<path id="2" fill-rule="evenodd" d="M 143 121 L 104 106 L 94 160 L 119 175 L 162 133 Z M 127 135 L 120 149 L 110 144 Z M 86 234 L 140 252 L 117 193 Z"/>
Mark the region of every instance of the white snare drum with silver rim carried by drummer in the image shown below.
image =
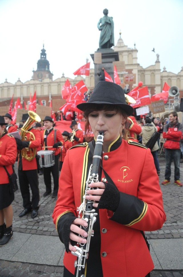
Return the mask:
<path id="1" fill-rule="evenodd" d="M 37 155 L 39 157 L 39 165 L 41 168 L 54 166 L 55 155 L 53 150 L 40 150 L 37 151 Z"/>

